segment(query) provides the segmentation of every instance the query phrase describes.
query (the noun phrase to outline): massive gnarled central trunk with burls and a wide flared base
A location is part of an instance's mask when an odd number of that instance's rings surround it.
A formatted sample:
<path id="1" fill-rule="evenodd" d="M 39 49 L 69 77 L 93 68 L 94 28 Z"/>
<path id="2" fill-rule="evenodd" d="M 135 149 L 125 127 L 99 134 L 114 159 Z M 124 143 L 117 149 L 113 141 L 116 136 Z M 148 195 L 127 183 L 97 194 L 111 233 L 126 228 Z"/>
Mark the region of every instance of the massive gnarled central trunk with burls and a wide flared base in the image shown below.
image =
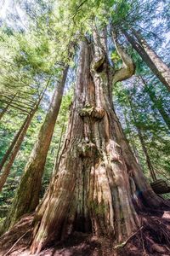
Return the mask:
<path id="1" fill-rule="evenodd" d="M 82 42 L 67 135 L 55 175 L 37 209 L 32 253 L 73 230 L 107 236 L 115 243 L 131 236 L 140 221 L 133 206 L 130 171 L 146 203 L 160 204 L 154 201 L 154 192 L 148 196 L 152 190 L 136 168 L 112 106 L 112 71 L 103 50 L 96 48 Z"/>

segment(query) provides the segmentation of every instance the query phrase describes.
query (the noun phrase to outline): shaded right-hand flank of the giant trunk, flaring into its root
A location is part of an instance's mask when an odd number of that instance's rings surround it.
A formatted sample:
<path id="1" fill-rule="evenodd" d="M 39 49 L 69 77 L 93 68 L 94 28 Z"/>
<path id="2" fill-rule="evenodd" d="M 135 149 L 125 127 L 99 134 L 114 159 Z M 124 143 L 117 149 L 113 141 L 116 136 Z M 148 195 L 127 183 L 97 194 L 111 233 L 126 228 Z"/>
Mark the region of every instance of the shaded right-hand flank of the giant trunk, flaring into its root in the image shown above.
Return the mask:
<path id="1" fill-rule="evenodd" d="M 122 131 L 122 125 L 116 117 L 115 112 L 114 120 L 117 143 L 119 143 L 122 148 L 122 154 L 126 162 L 128 176 L 130 177 L 130 183 L 132 185 L 133 203 L 135 206 L 139 207 L 139 209 L 143 209 L 144 207 L 169 207 L 170 204 L 158 197 L 151 189 L 150 184 L 146 182 L 141 166 L 139 166 L 134 157 L 133 151 L 127 142 L 127 138 Z"/>

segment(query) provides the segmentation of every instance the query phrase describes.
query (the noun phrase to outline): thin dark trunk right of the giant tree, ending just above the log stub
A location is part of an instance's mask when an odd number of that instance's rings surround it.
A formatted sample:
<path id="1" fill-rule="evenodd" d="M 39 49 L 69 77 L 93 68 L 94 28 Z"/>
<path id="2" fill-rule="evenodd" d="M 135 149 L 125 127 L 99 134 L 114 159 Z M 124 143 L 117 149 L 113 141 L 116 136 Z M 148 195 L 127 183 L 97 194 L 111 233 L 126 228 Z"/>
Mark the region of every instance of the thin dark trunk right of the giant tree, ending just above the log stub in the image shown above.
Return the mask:
<path id="1" fill-rule="evenodd" d="M 129 96 L 128 101 L 129 101 L 129 105 L 130 105 L 130 108 L 131 108 L 131 112 L 133 114 L 134 125 L 136 126 L 136 129 L 138 131 L 139 141 L 140 141 L 142 149 L 144 151 L 145 160 L 146 160 L 148 169 L 150 171 L 150 177 L 152 177 L 153 181 L 156 181 L 156 173 L 154 171 L 154 167 L 151 164 L 150 155 L 148 154 L 148 149 L 145 146 L 144 137 L 142 135 L 142 131 L 140 130 L 139 125 L 137 125 L 136 114 L 135 114 L 135 111 L 134 111 L 134 108 L 133 108 L 132 98 L 130 96 Z"/>

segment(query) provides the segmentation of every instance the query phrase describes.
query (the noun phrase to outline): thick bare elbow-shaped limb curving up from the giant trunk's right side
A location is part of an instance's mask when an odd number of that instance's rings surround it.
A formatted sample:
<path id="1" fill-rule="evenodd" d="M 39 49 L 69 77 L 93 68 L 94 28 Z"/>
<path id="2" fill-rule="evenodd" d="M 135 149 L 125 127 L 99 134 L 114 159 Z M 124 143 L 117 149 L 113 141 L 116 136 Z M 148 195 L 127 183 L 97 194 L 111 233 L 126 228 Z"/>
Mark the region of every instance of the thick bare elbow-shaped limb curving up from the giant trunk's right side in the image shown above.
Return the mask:
<path id="1" fill-rule="evenodd" d="M 122 68 L 116 70 L 116 73 L 113 76 L 113 84 L 116 84 L 116 82 L 120 82 L 122 80 L 132 77 L 135 71 L 135 66 L 131 57 L 127 55 L 126 51 L 118 43 L 116 32 L 112 32 L 112 38 L 116 47 L 116 51 L 122 59 Z"/>

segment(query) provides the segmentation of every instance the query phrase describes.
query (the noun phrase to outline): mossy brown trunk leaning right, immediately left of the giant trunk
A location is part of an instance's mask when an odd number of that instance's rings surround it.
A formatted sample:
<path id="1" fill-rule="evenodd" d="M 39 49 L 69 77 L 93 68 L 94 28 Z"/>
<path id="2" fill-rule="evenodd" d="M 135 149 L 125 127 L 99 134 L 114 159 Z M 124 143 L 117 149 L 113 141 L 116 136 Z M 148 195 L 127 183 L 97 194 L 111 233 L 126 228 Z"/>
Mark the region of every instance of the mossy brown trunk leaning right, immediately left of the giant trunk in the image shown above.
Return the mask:
<path id="1" fill-rule="evenodd" d="M 39 131 L 37 142 L 31 151 L 25 172 L 20 180 L 19 188 L 14 196 L 12 207 L 8 212 L 8 217 L 3 225 L 4 230 L 12 226 L 23 214 L 35 210 L 39 202 L 42 174 L 54 132 L 54 125 L 59 113 L 67 71 L 68 67 L 65 67 L 61 81 L 54 90 L 54 96 L 48 113 Z"/>

